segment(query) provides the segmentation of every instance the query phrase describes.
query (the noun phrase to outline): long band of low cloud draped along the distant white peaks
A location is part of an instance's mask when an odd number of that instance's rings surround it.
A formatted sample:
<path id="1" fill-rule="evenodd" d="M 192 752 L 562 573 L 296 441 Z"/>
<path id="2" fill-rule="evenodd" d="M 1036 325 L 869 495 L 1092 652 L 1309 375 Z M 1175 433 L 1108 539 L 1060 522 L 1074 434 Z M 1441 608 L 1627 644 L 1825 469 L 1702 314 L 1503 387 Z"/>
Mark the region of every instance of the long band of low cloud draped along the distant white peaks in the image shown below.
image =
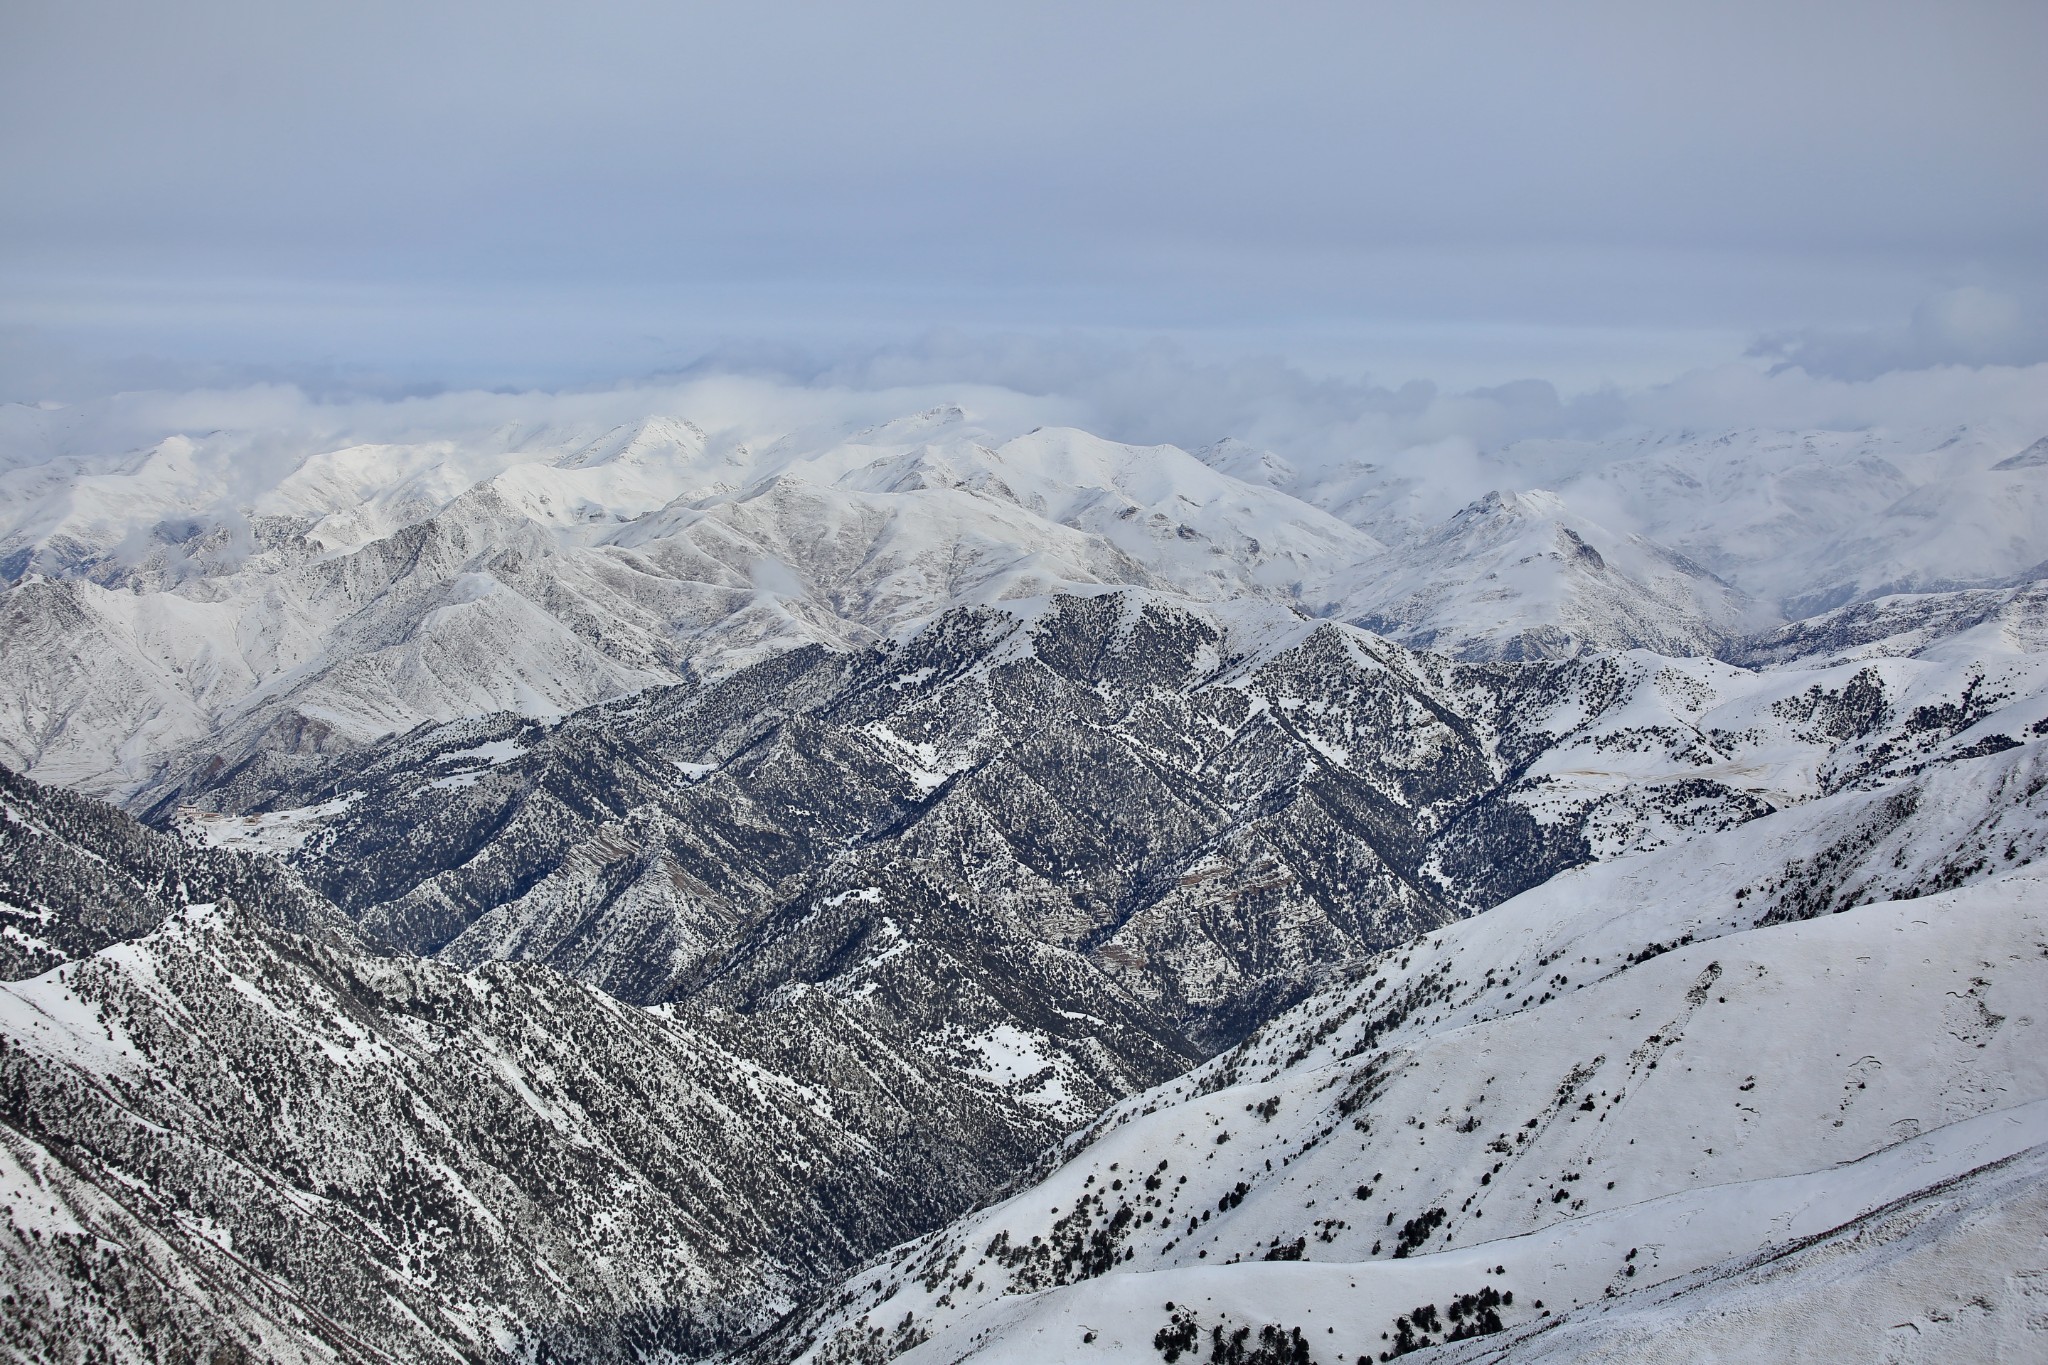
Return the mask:
<path id="1" fill-rule="evenodd" d="M 174 383 L 0 409 L 0 471 L 53 456 L 102 463 L 172 434 L 215 434 L 209 446 L 231 465 L 229 481 L 260 489 L 307 454 L 348 444 L 489 444 L 541 428 L 567 438 L 655 413 L 729 440 L 772 442 L 791 432 L 854 432 L 940 403 L 961 403 L 995 438 L 1034 426 L 1184 448 L 1235 438 L 1303 469 L 1389 460 L 1444 469 L 1528 440 L 1612 442 L 1620 452 L 1634 444 L 1616 440 L 1628 434 L 1886 430 L 1931 450 L 1960 426 L 2019 444 L 2048 432 L 2048 362 L 1888 366 L 1855 377 L 1731 360 L 1636 389 L 1561 393 L 1528 379 L 1448 391 L 1425 381 L 1315 377 L 1278 358 L 1204 360 L 1165 342 L 932 334 L 836 354 L 729 350 L 680 372 L 584 389 L 408 393 L 375 383 L 352 389 L 346 379 L 250 383 L 147 366 L 137 377 Z M 1475 479 L 1499 477 L 1499 469 L 1485 475 L 1483 463 L 1470 469 Z"/>

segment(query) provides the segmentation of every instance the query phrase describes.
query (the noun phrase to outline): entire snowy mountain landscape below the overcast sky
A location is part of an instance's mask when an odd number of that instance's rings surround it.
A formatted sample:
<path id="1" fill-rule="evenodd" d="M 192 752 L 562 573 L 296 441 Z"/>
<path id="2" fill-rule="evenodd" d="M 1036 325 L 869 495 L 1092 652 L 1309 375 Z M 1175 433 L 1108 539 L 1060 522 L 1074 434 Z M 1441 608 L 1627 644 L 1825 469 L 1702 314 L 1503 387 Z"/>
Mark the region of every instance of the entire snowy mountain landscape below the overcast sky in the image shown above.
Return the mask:
<path id="1" fill-rule="evenodd" d="M 874 403 L 6 409 L 12 1359 L 2042 1349 L 2048 434 Z"/>

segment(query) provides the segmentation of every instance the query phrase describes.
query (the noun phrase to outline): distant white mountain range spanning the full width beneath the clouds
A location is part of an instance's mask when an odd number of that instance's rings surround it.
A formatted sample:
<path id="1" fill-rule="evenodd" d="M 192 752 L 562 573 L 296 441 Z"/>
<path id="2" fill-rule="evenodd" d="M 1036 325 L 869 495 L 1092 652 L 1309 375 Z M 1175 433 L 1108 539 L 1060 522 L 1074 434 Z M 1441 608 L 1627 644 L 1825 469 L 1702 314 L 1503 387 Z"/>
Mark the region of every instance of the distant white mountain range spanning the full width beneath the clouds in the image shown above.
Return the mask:
<path id="1" fill-rule="evenodd" d="M 23 450 L 0 452 L 0 761 L 111 796 L 168 755 L 553 716 L 1067 587 L 1264 600 L 1468 657 L 1718 653 L 1786 604 L 2048 559 L 2048 465 L 2005 432 L 1298 471 L 963 407 L 858 432 L 655 415 L 131 452 L 57 426 L 16 422 Z"/>

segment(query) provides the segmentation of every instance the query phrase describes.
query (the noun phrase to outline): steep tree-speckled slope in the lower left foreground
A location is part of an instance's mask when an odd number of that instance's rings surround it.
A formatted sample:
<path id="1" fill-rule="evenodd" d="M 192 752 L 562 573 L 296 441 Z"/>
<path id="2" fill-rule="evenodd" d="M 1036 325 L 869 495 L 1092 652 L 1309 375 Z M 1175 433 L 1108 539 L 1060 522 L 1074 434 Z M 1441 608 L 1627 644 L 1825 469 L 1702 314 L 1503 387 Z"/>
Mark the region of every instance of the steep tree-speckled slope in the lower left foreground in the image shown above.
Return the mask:
<path id="1" fill-rule="evenodd" d="M 6 812 L 8 866 L 61 890 L 45 937 L 125 935 L 0 986 L 18 1359 L 696 1357 L 1061 1130 L 858 999 L 635 1009 L 381 958 L 289 927 L 313 898 L 238 853 L 178 864 L 18 778 Z"/>

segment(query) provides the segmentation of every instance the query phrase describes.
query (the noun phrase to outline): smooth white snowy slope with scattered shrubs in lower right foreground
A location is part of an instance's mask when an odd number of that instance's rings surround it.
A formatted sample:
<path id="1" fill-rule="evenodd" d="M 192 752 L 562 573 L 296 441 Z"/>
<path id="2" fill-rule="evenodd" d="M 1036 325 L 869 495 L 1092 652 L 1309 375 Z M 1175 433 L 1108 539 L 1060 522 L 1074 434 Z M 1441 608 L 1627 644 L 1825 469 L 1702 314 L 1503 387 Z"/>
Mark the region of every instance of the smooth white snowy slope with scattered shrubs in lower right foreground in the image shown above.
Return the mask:
<path id="1" fill-rule="evenodd" d="M 782 1349 L 1329 1365 L 1491 1310 L 1430 1359 L 2038 1359 L 2044 845 L 2036 741 L 1569 872 L 1118 1105 Z"/>

